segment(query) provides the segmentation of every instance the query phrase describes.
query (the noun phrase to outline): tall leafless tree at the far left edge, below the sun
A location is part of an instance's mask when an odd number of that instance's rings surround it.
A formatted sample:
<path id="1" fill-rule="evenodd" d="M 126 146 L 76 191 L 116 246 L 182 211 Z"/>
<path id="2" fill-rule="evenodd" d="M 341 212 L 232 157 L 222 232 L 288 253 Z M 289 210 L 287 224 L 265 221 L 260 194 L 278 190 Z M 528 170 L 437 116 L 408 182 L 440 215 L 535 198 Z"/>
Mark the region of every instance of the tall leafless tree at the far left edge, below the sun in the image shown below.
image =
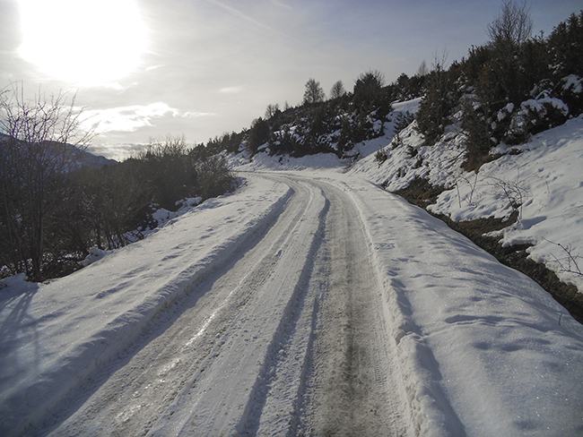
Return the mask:
<path id="1" fill-rule="evenodd" d="M 22 84 L 0 94 L 0 246 L 2 264 L 40 280 L 48 228 L 57 221 L 65 174 L 76 165 L 92 131 L 81 129 L 75 96 L 25 99 Z"/>

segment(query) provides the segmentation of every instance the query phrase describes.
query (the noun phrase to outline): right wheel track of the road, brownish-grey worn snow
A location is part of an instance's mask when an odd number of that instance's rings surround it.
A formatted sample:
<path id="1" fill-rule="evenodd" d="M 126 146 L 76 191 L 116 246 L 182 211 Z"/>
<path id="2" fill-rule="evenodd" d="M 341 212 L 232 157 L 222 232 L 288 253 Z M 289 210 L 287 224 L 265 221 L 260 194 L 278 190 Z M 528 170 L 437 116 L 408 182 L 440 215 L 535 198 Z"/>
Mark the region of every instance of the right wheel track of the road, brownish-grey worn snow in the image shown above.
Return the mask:
<path id="1" fill-rule="evenodd" d="M 304 435 L 404 435 L 379 278 L 356 205 L 332 185 L 326 223 L 329 278 L 318 317 Z"/>

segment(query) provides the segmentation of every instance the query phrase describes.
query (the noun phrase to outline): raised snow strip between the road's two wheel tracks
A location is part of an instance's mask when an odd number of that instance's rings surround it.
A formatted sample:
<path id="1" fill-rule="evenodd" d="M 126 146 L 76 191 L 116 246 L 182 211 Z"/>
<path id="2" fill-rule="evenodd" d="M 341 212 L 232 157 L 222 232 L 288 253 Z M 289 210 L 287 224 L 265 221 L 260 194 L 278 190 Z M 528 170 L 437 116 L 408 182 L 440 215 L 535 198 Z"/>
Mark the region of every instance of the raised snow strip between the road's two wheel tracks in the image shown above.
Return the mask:
<path id="1" fill-rule="evenodd" d="M 277 344 L 285 342 L 302 302 L 326 216 L 326 199 L 305 185 L 309 206 L 275 250 L 281 261 L 221 339 L 221 348 L 204 373 L 187 386 L 151 435 L 254 433 L 265 404 L 269 373 L 277 362 Z M 316 242 L 316 243 L 315 243 Z M 219 413 L 221 412 L 221 413 Z"/>

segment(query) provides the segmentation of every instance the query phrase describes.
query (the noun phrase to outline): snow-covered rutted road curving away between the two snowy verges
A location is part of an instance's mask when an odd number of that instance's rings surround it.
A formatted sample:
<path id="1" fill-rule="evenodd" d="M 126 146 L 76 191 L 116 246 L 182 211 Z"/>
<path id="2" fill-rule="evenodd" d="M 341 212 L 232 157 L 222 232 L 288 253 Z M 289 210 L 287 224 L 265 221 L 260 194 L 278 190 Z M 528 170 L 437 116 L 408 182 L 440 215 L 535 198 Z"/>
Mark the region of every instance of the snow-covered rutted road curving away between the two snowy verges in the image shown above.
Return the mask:
<path id="1" fill-rule="evenodd" d="M 292 188 L 270 227 L 161 313 L 51 435 L 405 435 L 370 241 L 352 198 Z"/>

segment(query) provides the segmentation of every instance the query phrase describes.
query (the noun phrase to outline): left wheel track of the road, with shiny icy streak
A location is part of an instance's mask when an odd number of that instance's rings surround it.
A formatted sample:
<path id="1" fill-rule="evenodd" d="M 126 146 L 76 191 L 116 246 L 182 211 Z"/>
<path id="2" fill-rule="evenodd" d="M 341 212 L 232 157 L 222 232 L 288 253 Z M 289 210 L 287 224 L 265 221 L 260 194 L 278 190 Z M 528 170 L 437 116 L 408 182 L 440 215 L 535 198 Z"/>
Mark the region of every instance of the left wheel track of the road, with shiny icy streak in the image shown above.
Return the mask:
<path id="1" fill-rule="evenodd" d="M 289 208 L 291 203 L 293 208 Z M 273 270 L 279 261 L 278 247 L 307 206 L 308 199 L 292 189 L 285 203 L 276 205 L 277 214 L 272 214 L 269 226 L 238 242 L 237 249 L 228 257 L 223 254 L 225 261 L 215 265 L 216 270 L 199 278 L 186 298 L 167 308 L 166 315 L 158 316 L 136 344 L 127 349 L 127 355 L 111 364 L 117 370 L 104 369 L 111 373 L 109 381 L 102 378 L 96 381 L 100 389 L 78 404 L 76 413 L 54 434 L 101 433 L 102 424 L 108 424 L 113 435 L 147 433 L 187 387 L 184 378 L 192 380 L 193 375 L 196 377 L 213 361 L 221 348 L 226 325 L 247 302 L 248 291 L 259 287 Z M 177 386 L 171 387 L 170 377 L 177 373 L 184 376 L 172 380 Z"/>

